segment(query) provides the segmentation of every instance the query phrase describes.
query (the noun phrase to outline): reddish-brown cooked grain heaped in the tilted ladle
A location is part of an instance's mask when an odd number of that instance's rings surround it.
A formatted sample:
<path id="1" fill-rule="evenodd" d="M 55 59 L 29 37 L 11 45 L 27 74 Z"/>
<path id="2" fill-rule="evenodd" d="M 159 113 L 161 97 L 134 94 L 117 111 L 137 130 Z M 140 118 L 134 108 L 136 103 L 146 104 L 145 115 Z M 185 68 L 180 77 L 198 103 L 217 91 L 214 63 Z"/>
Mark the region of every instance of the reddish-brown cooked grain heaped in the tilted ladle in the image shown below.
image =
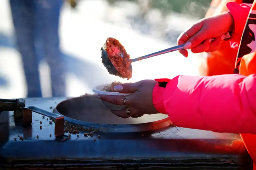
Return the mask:
<path id="1" fill-rule="evenodd" d="M 114 38 L 108 38 L 103 50 L 108 53 L 108 58 L 116 68 L 116 70 L 121 74 L 122 78 L 127 78 L 128 80 L 132 77 L 131 70 L 131 60 L 130 55 L 127 54 L 124 46 Z"/>

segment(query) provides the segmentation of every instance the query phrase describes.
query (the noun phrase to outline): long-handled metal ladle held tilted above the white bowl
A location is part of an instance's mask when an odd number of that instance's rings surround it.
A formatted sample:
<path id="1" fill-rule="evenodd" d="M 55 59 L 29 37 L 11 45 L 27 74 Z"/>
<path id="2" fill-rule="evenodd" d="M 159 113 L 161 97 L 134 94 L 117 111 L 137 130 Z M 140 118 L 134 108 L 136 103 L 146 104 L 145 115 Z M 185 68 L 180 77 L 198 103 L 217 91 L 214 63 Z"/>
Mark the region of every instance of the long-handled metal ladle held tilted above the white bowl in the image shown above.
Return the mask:
<path id="1" fill-rule="evenodd" d="M 224 40 L 227 41 L 230 38 L 231 38 L 230 34 L 226 33 Z M 214 40 L 214 38 L 212 40 Z M 154 57 L 154 56 L 157 56 L 157 55 L 162 55 L 162 54 L 170 53 L 172 51 L 177 51 L 177 50 L 184 49 L 184 45 L 185 44 L 181 44 L 181 45 L 174 46 L 174 47 L 171 47 L 171 48 L 167 48 L 167 49 L 164 49 L 164 50 L 161 50 L 161 51 L 157 51 L 155 53 L 151 53 L 151 54 L 148 54 L 148 55 L 144 55 L 144 56 L 141 56 L 141 57 L 138 57 L 138 58 L 131 59 L 131 63 L 132 62 L 136 62 L 136 61 L 140 61 L 140 60 L 143 60 L 143 59 L 146 59 L 146 58 Z M 122 54 L 121 54 L 121 56 L 123 57 Z M 107 53 L 107 51 L 104 48 L 101 48 L 101 59 L 102 59 L 101 61 L 102 61 L 103 65 L 107 68 L 107 70 L 108 70 L 108 72 L 110 74 L 115 75 L 115 76 L 119 76 L 121 78 L 124 78 L 124 76 L 122 76 L 118 72 L 118 70 L 116 70 L 116 68 L 114 67 L 113 63 L 108 58 L 108 53 Z M 130 64 L 130 70 L 132 70 L 132 64 Z"/>

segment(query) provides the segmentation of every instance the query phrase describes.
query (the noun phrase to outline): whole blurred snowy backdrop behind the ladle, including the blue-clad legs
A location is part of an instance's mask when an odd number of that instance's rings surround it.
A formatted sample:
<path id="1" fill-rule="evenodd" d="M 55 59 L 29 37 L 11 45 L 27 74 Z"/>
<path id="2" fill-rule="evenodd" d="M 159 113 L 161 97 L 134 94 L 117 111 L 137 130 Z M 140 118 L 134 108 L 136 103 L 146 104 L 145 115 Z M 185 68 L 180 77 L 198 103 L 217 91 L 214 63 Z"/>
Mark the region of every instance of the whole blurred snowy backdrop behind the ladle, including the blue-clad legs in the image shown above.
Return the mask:
<path id="1" fill-rule="evenodd" d="M 0 98 L 75 97 L 122 78 L 100 48 L 119 40 L 131 58 L 176 45 L 211 0 L 1 0 Z M 197 75 L 199 56 L 178 52 L 132 63 L 129 81 Z"/>

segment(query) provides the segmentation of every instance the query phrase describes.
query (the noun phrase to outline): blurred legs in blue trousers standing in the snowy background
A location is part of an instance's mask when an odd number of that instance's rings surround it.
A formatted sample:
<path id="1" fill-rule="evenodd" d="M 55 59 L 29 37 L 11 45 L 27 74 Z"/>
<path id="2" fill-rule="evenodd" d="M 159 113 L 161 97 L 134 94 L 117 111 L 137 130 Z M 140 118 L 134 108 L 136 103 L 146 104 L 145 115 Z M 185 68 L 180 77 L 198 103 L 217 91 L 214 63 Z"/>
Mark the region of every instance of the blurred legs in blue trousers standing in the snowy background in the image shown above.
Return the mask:
<path id="1" fill-rule="evenodd" d="M 40 52 L 51 70 L 52 96 L 65 96 L 65 63 L 59 49 L 58 34 L 62 4 L 63 0 L 10 0 L 17 45 L 27 81 L 27 97 L 42 97 L 36 41 L 42 44 Z"/>

